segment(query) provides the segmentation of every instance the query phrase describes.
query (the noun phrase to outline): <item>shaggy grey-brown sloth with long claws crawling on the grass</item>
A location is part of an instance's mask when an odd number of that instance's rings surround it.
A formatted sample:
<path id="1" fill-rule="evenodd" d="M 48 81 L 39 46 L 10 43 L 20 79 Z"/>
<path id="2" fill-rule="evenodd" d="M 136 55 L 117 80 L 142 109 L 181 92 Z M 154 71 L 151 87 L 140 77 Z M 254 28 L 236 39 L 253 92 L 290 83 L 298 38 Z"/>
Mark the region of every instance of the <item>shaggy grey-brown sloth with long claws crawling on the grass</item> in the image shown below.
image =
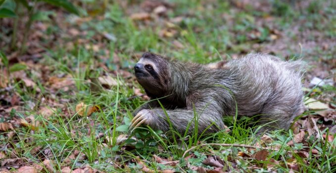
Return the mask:
<path id="1" fill-rule="evenodd" d="M 300 60 L 283 61 L 250 53 L 227 62 L 201 65 L 146 52 L 134 66 L 150 101 L 134 111 L 130 128 L 214 133 L 224 130 L 223 116 L 256 116 L 266 130 L 288 130 L 305 110 Z"/>

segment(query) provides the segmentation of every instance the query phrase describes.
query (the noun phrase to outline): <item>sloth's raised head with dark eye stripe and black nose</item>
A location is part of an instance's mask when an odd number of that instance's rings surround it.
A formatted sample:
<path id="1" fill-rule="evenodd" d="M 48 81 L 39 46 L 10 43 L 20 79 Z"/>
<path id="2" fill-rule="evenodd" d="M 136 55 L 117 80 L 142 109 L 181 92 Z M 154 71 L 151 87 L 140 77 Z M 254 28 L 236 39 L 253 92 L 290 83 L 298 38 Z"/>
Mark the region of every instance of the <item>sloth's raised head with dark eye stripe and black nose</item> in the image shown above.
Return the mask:
<path id="1" fill-rule="evenodd" d="M 169 83 L 168 61 L 160 55 L 145 52 L 134 66 L 135 76 L 149 96 L 163 96 Z"/>

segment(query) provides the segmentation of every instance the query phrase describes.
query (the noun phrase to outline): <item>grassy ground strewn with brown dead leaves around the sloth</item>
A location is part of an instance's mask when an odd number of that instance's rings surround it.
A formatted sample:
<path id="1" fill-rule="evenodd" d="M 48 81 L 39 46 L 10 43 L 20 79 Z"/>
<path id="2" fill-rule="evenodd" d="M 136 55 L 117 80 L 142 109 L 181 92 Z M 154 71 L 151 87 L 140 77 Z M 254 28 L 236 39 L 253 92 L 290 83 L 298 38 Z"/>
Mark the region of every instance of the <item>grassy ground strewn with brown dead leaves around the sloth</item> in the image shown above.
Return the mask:
<path id="1" fill-rule="evenodd" d="M 0 18 L 1 173 L 336 171 L 334 0 L 52 1 Z M 307 110 L 263 136 L 233 117 L 208 137 L 131 133 L 148 100 L 133 74 L 144 51 L 196 63 L 300 58 Z"/>

